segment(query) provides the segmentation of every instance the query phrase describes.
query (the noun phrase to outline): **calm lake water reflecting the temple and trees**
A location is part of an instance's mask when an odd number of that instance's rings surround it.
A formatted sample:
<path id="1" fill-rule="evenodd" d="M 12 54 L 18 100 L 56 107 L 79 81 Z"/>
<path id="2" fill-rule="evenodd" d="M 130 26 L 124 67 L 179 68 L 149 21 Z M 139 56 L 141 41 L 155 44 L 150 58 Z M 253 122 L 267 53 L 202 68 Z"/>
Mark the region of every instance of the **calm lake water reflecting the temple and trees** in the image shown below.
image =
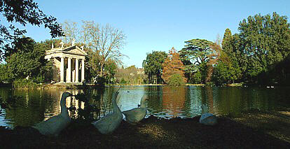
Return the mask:
<path id="1" fill-rule="evenodd" d="M 110 112 L 109 103 L 113 90 L 119 87 L 106 87 L 104 90 L 11 90 L 0 88 L 0 96 L 10 103 L 10 108 L 1 107 L 0 125 L 31 126 L 60 113 L 60 97 L 63 92 L 78 94 L 83 92 L 90 104 L 99 103 L 102 116 Z M 149 95 L 146 101 L 148 115 L 162 118 L 191 118 L 202 113 L 231 115 L 238 117 L 241 112 L 251 109 L 262 111 L 283 110 L 290 107 L 289 87 L 168 87 L 168 86 L 123 86 L 117 101 L 121 111 L 136 108 L 143 94 Z M 83 109 L 85 104 L 74 97 L 67 98 L 67 107 Z M 78 113 L 71 111 L 70 116 Z"/>

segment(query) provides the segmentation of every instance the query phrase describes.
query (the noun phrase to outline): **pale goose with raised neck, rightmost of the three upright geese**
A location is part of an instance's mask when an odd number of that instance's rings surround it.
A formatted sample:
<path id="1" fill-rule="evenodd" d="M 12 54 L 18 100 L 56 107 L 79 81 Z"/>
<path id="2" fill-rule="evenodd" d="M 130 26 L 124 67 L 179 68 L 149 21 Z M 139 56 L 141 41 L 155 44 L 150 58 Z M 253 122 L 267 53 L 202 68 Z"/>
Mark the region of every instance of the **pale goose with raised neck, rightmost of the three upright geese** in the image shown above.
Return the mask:
<path id="1" fill-rule="evenodd" d="M 145 103 L 146 99 L 148 99 L 148 96 L 144 94 L 143 97 L 141 98 L 139 108 L 132 108 L 129 111 L 122 112 L 125 115 L 127 122 L 129 122 L 132 125 L 136 125 L 138 122 L 143 120 L 143 118 L 145 118 L 147 114 L 147 108 Z"/>

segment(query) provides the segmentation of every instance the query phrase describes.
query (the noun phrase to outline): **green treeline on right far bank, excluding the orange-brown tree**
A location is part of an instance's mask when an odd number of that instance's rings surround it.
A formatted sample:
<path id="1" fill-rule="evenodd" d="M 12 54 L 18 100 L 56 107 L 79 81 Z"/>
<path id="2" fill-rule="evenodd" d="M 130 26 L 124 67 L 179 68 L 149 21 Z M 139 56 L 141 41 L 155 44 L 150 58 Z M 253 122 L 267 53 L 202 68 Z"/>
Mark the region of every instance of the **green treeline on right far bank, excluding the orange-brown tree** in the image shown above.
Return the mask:
<path id="1" fill-rule="evenodd" d="M 286 16 L 277 13 L 254 15 L 242 20 L 238 34 L 226 29 L 223 38 L 215 42 L 205 39 L 185 41 L 179 50 L 183 66 L 165 66 L 172 55 L 153 51 L 147 54 L 143 66 L 149 83 L 169 83 L 164 70 L 178 71 L 187 83 L 225 85 L 290 85 L 290 29 Z M 177 63 L 175 63 L 177 64 Z M 175 68 L 175 69 L 174 69 Z M 155 78 L 155 79 L 153 79 Z"/>

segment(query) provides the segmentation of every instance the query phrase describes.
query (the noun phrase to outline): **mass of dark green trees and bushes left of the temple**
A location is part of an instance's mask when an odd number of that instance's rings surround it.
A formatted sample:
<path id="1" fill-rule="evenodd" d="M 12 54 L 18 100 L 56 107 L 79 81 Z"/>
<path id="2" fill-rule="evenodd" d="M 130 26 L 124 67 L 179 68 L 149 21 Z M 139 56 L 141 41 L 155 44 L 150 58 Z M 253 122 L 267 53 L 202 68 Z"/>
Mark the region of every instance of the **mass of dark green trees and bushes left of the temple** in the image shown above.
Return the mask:
<path id="1" fill-rule="evenodd" d="M 1 64 L 3 69 L 0 71 L 0 81 L 12 83 L 23 78 L 34 83 L 50 81 L 52 62 L 44 59 L 45 50 L 49 49 L 51 43 L 57 44 L 58 42 L 57 40 L 47 40 L 36 43 L 29 37 L 15 39 L 11 47 L 5 49 L 6 64 Z"/>

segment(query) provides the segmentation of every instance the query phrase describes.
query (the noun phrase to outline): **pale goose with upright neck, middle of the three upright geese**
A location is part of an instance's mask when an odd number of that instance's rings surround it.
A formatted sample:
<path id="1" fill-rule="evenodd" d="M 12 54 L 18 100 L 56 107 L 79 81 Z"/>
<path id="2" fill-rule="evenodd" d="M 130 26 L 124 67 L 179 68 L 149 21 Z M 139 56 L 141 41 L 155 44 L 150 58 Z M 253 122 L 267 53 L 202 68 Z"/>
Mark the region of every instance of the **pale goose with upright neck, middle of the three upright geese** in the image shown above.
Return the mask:
<path id="1" fill-rule="evenodd" d="M 123 115 L 116 103 L 116 99 L 120 99 L 119 92 L 113 94 L 112 104 L 113 104 L 113 113 L 105 115 L 102 119 L 92 122 L 100 133 L 102 134 L 111 134 L 115 129 L 118 128 L 120 122 L 123 120 Z"/>

